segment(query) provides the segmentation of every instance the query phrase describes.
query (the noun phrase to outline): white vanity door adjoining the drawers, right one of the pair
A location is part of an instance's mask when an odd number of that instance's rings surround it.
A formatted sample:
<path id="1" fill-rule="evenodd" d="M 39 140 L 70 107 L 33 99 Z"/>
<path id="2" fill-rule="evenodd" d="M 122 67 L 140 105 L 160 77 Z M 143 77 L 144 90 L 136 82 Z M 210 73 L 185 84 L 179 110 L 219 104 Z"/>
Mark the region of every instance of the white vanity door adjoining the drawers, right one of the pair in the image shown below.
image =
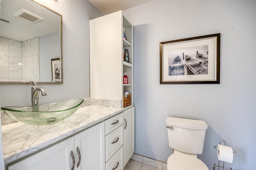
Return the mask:
<path id="1" fill-rule="evenodd" d="M 105 170 L 104 122 L 77 134 L 74 138 L 76 170 Z"/>

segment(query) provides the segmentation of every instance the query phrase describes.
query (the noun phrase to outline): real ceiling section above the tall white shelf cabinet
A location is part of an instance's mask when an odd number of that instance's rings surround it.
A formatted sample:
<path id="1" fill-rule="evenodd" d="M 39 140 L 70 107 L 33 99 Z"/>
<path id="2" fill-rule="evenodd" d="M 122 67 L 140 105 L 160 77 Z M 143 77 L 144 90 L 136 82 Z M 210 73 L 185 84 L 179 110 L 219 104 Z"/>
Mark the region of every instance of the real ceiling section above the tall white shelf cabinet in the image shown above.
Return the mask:
<path id="1" fill-rule="evenodd" d="M 127 10 L 135 6 L 146 4 L 153 0 L 89 0 L 103 14 L 110 14 L 120 10 Z"/>

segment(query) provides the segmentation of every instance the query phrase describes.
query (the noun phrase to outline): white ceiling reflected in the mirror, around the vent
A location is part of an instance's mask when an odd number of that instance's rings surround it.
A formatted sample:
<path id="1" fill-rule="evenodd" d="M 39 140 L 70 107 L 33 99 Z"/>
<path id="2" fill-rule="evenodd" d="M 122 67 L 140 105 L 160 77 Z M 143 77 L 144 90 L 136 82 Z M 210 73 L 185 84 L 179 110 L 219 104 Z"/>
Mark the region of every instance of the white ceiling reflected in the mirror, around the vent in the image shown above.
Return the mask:
<path id="1" fill-rule="evenodd" d="M 21 9 L 44 18 L 38 22 L 28 22 L 14 14 Z M 1 0 L 0 37 L 23 42 L 31 38 L 60 31 L 60 16 L 38 5 L 32 0 Z"/>

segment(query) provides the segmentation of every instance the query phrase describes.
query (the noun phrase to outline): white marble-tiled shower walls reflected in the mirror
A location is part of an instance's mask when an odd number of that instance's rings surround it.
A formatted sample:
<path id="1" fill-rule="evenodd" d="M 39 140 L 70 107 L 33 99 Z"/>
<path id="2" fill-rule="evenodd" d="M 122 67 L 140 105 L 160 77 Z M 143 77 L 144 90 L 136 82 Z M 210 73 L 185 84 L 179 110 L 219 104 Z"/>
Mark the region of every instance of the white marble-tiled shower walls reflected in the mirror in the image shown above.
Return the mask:
<path id="1" fill-rule="evenodd" d="M 24 42 L 0 37 L 0 81 L 38 81 L 38 53 L 38 37 Z"/>

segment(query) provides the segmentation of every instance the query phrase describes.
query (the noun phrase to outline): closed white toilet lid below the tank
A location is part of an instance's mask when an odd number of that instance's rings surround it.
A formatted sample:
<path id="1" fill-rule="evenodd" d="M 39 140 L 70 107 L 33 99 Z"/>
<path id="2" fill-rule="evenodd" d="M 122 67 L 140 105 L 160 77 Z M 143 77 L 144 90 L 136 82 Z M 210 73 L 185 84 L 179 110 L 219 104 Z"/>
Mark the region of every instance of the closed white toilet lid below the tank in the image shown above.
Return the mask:
<path id="1" fill-rule="evenodd" d="M 209 170 L 202 160 L 186 154 L 171 154 L 167 160 L 168 170 Z"/>

